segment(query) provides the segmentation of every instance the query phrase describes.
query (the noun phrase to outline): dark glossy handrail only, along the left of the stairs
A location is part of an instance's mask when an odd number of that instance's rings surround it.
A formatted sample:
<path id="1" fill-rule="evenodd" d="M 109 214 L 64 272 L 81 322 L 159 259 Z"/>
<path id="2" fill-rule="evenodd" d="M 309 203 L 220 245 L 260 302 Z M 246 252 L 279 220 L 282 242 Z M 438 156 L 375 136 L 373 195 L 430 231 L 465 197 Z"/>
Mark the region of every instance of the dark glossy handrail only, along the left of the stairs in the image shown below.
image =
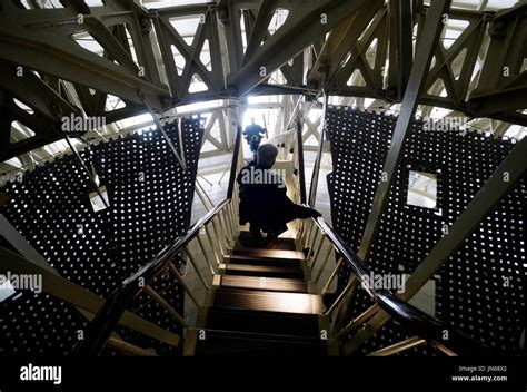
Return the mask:
<path id="1" fill-rule="evenodd" d="M 230 199 L 226 198 L 218 204 L 208 212 L 207 215 L 196 222 L 186 233 L 177 237 L 171 245 L 168 245 L 159 252 L 150 263 L 143 265 L 132 276 L 123 281 L 113 293 L 110 294 L 93 317 L 88 327 L 86 339 L 76 347 L 74 354 L 87 356 L 99 355 L 125 312 L 126 305 L 139 295 L 148 282 L 163 270 L 166 263 L 191 241 L 229 202 Z M 142 282 L 143 285 L 140 285 L 140 282 Z"/>

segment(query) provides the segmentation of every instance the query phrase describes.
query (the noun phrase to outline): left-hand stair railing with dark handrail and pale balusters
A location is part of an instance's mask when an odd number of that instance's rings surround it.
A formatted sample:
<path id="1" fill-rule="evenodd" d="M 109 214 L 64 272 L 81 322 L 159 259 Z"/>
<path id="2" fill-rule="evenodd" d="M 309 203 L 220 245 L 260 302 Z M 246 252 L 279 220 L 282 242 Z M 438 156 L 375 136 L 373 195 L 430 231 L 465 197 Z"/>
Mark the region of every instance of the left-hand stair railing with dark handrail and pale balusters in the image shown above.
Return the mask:
<path id="1" fill-rule="evenodd" d="M 241 144 L 241 128 L 237 128 L 233 157 L 239 158 Z M 201 199 L 203 206 L 209 209 L 208 213 L 196 222 L 189 229 L 177 237 L 171 245 L 163 248 L 157 256 L 148 264 L 142 266 L 132 276 L 122 282 L 112 294 L 105 301 L 102 306 L 97 312 L 95 318 L 88 326 L 86 339 L 77 345 L 74 354 L 77 355 L 100 355 L 105 346 L 108 344 L 130 355 L 148 355 L 151 354 L 141 347 L 138 347 L 129 342 L 125 342 L 120 337 L 116 339 L 115 330 L 119 324 L 123 324 L 123 318 L 129 317 L 130 312 L 127 307 L 141 293 L 146 293 L 152 301 L 165 308 L 176 321 L 178 325 L 183 329 L 190 327 L 188 321 L 183 315 L 178 313 L 169 302 L 163 298 L 161 293 L 158 293 L 150 283 L 158 276 L 171 276 L 185 290 L 189 300 L 199 308 L 205 303 L 199 303 L 196 293 L 186 282 L 185 276 L 178 271 L 173 261 L 178 258 L 179 254 L 185 253 L 188 256 L 188 262 L 192 265 L 201 285 L 207 290 L 212 285 L 212 278 L 206 280 L 200 271 L 200 261 L 206 263 L 210 271 L 210 275 L 215 276 L 218 273 L 219 265 L 222 262 L 222 256 L 227 254 L 229 247 L 233 246 L 236 235 L 238 233 L 238 188 L 236 184 L 236 174 L 240 159 L 232 159 L 229 186 L 227 189 L 227 197 L 217 206 L 212 206 L 205 190 L 200 187 L 199 182 L 196 182 L 196 195 Z M 208 205 L 209 204 L 209 205 Z M 202 234 L 200 234 L 202 233 Z M 205 237 L 208 241 L 208 247 Z M 197 249 L 203 255 L 202 259 L 198 261 L 196 255 L 189 249 L 190 244 L 195 242 Z M 209 254 L 208 254 L 209 251 Z M 206 298 L 203 298 L 205 301 Z M 141 331 L 139 331 L 141 332 Z M 178 346 L 180 336 L 173 339 L 173 333 L 166 330 L 167 334 L 172 336 L 171 345 Z M 167 343 L 167 339 L 162 339 L 162 333 L 156 337 Z M 150 335 L 150 337 L 152 337 Z"/>

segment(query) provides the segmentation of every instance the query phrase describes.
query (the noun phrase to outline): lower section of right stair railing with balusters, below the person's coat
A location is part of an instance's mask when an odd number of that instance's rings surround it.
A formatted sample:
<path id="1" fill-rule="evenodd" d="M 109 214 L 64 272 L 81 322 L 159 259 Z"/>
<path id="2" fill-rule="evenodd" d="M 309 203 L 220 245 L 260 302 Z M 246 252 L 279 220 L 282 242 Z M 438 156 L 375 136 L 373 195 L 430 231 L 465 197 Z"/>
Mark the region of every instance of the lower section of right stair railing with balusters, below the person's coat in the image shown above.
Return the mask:
<path id="1" fill-rule="evenodd" d="M 320 239 L 317 244 L 317 237 L 319 235 Z M 336 339 L 346 339 L 354 332 L 359 331 L 360 326 L 377 314 L 377 312 L 385 311 L 399 323 L 402 329 L 416 336 L 400 344 L 390 346 L 389 350 L 385 351 L 385 349 L 382 349 L 378 353 L 371 353 L 370 355 L 395 354 L 425 343 L 431 344 L 447 355 L 494 354 L 493 350 L 483 346 L 464 333 L 410 305 L 392 294 L 389 290 L 372 287 L 370 270 L 362 264 L 349 245 L 322 218 L 312 218 L 310 224 L 307 223 L 300 238 L 304 244 L 308 244 L 308 267 L 311 272 L 311 276 L 314 276 L 315 283 L 319 283 L 331 253 L 335 252 L 337 255 L 336 266 L 329 274 L 320 294 L 325 295 L 329 292 L 332 281 L 344 266 L 348 266 L 351 272 L 348 284 L 340 291 L 339 295 L 335 297 L 332 303 L 327 306 L 324 314 L 332 316 L 342 298 L 356 284 L 364 287 L 369 297 L 375 302 L 374 306 L 356 316 L 345 327 L 339 331 L 334 331 L 332 333 Z M 327 249 L 322 253 L 321 249 L 325 243 Z M 448 331 L 448 341 L 445 340 L 445 331 Z"/>

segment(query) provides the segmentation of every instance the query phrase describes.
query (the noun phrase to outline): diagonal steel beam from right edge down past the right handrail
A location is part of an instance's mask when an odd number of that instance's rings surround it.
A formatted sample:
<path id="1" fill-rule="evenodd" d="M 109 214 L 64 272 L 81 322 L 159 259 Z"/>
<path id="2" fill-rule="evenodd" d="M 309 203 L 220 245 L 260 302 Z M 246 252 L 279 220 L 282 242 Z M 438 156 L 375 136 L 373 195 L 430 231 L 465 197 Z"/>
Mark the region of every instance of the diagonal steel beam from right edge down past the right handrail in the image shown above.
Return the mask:
<path id="1" fill-rule="evenodd" d="M 405 293 L 400 297 L 409 301 L 428 282 L 429 278 L 459 249 L 494 210 L 505 196 L 525 177 L 527 173 L 527 138 L 523 138 L 501 161 L 489 179 L 479 189 L 473 200 L 449 227 L 445 235 L 406 282 Z M 508 180 L 505 180 L 507 178 Z M 390 316 L 379 311 L 351 340 L 344 346 L 344 354 L 355 351 L 388 321 Z"/>

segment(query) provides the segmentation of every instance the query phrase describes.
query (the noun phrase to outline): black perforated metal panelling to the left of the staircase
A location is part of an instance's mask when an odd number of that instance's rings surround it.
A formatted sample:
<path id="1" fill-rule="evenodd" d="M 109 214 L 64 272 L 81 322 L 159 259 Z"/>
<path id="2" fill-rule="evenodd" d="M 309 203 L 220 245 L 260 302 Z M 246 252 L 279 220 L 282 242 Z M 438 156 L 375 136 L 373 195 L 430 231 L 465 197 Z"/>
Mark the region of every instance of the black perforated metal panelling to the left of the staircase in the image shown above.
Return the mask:
<path id="1" fill-rule="evenodd" d="M 177 124 L 166 130 L 179 149 Z M 88 195 L 93 188 L 78 160 L 68 156 L 10 185 L 12 200 L 2 212 L 63 277 L 106 297 L 189 226 L 201 137 L 198 117 L 182 121 L 188 171 L 158 130 L 83 150 L 82 158 L 93 164 L 100 185 L 107 186 L 109 209 L 92 210 Z M 183 292 L 173 278 L 159 277 L 152 286 L 182 313 Z M 132 308 L 179 330 L 143 295 Z M 77 342 L 76 331 L 86 327 L 72 306 L 46 294 L 21 292 L 0 303 L 0 314 L 1 334 L 8 336 L 2 354 L 67 354 Z M 129 331 L 119 333 L 139 342 Z"/>

